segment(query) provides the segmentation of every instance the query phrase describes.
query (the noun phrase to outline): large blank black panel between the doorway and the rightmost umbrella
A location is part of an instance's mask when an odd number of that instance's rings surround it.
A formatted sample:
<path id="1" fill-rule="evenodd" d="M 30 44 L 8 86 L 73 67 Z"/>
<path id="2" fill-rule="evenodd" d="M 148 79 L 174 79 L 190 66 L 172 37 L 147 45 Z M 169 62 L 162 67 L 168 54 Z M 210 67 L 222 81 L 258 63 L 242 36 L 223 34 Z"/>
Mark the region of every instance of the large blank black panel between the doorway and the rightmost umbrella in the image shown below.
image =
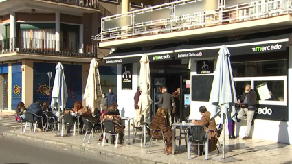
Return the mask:
<path id="1" fill-rule="evenodd" d="M 214 75 L 192 75 L 192 101 L 209 102 Z"/>

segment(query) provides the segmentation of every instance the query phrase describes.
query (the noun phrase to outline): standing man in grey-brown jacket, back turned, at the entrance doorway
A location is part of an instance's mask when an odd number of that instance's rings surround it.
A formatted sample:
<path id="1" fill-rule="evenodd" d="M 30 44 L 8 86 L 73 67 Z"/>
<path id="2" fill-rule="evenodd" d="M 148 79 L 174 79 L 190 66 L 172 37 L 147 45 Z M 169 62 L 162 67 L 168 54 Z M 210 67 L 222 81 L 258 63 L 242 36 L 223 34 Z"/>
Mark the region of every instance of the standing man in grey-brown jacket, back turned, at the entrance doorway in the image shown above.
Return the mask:
<path id="1" fill-rule="evenodd" d="M 170 93 L 167 92 L 167 89 L 164 87 L 162 88 L 162 94 L 161 97 L 159 99 L 158 102 L 156 102 L 155 104 L 161 104 L 162 103 L 162 107 L 166 109 L 166 113 L 167 113 L 167 117 L 168 117 L 168 121 L 169 121 L 169 125 L 171 126 L 172 122 L 171 122 L 171 113 L 172 113 L 172 103 L 175 102 L 172 95 Z"/>

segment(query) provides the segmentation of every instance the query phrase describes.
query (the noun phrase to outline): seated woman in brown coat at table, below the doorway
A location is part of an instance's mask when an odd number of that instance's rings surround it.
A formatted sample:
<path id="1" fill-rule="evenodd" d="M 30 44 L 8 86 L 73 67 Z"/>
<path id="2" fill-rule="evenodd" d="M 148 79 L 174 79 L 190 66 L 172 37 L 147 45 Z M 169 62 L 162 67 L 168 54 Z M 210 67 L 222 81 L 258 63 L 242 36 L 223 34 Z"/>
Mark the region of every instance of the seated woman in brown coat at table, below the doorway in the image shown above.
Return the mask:
<path id="1" fill-rule="evenodd" d="M 172 154 L 172 130 L 170 126 L 167 126 L 166 124 L 166 109 L 161 107 L 158 108 L 157 113 L 155 117 L 153 117 L 150 128 L 153 130 L 162 130 L 164 132 L 164 138 L 166 139 L 167 143 L 167 151 L 168 154 Z M 152 135 L 152 133 L 150 134 Z M 159 132 L 154 132 L 153 137 L 161 137 L 162 138 L 162 133 Z"/>

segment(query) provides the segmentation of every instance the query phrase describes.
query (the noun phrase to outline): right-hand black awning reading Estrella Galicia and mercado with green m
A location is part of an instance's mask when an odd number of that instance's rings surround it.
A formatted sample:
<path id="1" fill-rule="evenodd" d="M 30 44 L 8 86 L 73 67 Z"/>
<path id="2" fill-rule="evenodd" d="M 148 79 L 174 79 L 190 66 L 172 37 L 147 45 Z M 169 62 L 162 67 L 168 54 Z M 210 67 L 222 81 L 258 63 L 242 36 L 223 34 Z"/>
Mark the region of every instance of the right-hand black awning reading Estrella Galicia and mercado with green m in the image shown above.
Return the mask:
<path id="1" fill-rule="evenodd" d="M 228 47 L 232 56 L 284 51 L 289 41 L 289 36 L 291 36 L 291 34 L 233 42 L 189 43 L 188 45 L 182 45 L 178 49 L 175 49 L 174 53 L 176 59 L 216 57 L 222 45 Z"/>

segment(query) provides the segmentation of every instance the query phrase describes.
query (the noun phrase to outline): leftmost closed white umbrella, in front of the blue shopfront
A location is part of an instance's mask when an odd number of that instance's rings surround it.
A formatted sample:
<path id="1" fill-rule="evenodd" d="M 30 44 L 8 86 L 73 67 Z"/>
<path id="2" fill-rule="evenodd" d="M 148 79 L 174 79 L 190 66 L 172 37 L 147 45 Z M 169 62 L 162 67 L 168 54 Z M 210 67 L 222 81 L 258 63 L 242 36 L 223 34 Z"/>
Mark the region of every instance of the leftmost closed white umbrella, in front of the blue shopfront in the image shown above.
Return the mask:
<path id="1" fill-rule="evenodd" d="M 59 62 L 58 65 L 56 66 L 56 74 L 55 74 L 54 86 L 53 86 L 53 91 L 52 91 L 52 102 L 51 102 L 51 106 L 54 106 L 54 104 L 58 104 L 58 117 L 60 117 L 60 112 L 64 110 L 64 108 L 66 108 L 67 98 L 68 98 L 68 91 L 67 91 L 67 85 L 66 85 L 66 80 L 65 80 L 65 75 L 64 75 L 64 67 Z M 63 134 L 62 131 L 61 131 L 61 134 Z"/>

